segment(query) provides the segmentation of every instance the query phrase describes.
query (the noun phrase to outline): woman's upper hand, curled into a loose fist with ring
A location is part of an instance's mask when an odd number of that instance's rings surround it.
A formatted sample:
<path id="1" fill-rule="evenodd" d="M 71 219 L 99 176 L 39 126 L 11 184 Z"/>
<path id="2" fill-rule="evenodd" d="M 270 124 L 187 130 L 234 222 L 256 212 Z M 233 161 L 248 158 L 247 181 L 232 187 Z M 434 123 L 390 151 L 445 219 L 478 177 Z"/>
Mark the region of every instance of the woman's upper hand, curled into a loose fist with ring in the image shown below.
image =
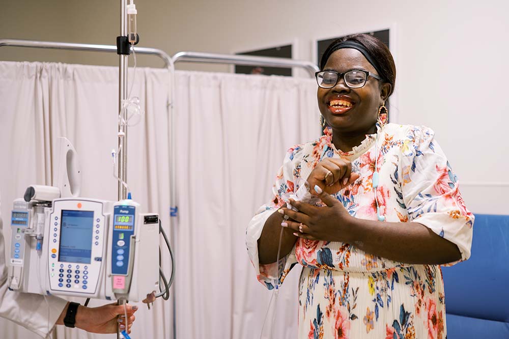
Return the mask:
<path id="1" fill-rule="evenodd" d="M 330 172 L 330 173 L 329 173 Z M 315 185 L 329 194 L 334 194 L 359 179 L 358 173 L 352 173 L 352 163 L 345 159 L 326 158 L 320 161 L 307 178 L 309 192 L 318 195 Z"/>

